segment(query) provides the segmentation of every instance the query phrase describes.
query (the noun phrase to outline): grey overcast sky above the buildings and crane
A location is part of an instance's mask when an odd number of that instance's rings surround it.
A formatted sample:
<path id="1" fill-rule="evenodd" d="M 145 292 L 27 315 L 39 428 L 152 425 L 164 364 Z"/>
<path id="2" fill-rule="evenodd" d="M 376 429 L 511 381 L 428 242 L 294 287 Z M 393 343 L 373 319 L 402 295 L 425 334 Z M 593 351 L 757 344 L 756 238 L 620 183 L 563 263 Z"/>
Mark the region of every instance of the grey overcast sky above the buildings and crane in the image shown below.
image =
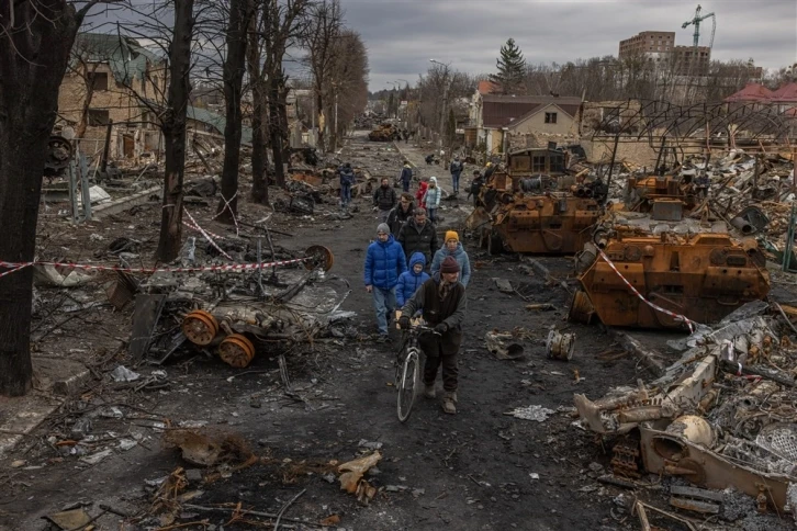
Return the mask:
<path id="1" fill-rule="evenodd" d="M 368 46 L 370 89 L 388 81 L 415 83 L 429 58 L 470 74 L 495 71 L 498 49 L 513 37 L 528 63 L 559 64 L 614 55 L 619 42 L 643 31 L 675 32 L 676 45 L 691 45 L 697 1 L 614 0 L 341 0 L 346 23 Z M 712 0 L 716 13 L 711 58 L 744 59 L 781 68 L 797 63 L 796 0 Z M 708 45 L 711 20 L 700 24 Z"/>

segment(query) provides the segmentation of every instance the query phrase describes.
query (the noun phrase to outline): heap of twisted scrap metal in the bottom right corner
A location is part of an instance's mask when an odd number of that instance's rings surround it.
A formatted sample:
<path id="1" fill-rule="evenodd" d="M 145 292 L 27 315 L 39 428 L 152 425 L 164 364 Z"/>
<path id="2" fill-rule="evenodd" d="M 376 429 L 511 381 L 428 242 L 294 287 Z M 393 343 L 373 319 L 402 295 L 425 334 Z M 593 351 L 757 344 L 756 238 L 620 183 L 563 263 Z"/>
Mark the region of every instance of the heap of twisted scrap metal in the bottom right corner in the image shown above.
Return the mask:
<path id="1" fill-rule="evenodd" d="M 797 518 L 797 329 L 784 319 L 776 304 L 749 303 L 671 341 L 681 359 L 658 380 L 596 400 L 574 395 L 583 426 L 615 443 L 615 476 L 732 488 L 760 512 Z M 677 483 L 671 505 L 720 513 L 721 497 L 685 501 Z"/>

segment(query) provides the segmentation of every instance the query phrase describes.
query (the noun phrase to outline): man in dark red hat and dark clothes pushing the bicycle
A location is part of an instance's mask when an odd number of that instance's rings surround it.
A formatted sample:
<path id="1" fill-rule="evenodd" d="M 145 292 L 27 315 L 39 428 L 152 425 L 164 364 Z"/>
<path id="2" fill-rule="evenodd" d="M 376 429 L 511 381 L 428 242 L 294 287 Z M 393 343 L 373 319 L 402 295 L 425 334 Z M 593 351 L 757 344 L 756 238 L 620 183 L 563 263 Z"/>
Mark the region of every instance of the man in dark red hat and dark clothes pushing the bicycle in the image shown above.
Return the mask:
<path id="1" fill-rule="evenodd" d="M 446 257 L 440 271 L 427 280 L 402 308 L 398 326 L 409 328 L 409 319 L 417 309 L 424 320 L 439 334 L 425 334 L 418 342 L 426 353 L 424 366 L 424 396 L 435 397 L 437 370 L 442 365 L 442 410 L 457 413 L 457 359 L 462 344 L 462 321 L 468 309 L 465 287 L 459 281 L 460 268 L 453 257 Z"/>

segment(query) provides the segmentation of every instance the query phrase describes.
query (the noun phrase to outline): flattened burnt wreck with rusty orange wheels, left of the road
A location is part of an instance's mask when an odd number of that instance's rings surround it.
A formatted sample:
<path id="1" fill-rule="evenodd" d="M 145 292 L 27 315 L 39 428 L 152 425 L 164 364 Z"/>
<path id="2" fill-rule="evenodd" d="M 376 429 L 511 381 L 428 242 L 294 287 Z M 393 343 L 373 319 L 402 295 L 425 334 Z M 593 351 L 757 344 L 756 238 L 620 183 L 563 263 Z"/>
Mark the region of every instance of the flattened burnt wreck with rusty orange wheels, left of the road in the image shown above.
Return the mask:
<path id="1" fill-rule="evenodd" d="M 333 287 L 335 279 L 325 275 L 332 266 L 332 252 L 313 246 L 303 257 L 261 268 L 156 272 L 136 295 L 131 354 L 162 362 L 188 348 L 216 352 L 229 365 L 245 368 L 256 354 L 344 337 L 351 331 L 346 319 L 352 314 L 338 308 L 349 292 L 341 296 Z"/>

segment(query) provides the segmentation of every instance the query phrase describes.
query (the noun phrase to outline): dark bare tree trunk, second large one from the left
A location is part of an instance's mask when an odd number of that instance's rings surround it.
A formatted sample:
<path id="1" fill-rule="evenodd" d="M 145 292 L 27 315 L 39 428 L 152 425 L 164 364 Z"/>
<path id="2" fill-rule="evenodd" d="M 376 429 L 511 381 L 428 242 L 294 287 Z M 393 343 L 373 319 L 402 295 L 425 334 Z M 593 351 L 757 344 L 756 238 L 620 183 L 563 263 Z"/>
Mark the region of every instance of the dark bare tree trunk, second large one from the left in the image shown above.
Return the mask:
<path id="1" fill-rule="evenodd" d="M 175 260 L 182 245 L 182 180 L 186 173 L 186 115 L 190 92 L 193 2 L 175 2 L 175 37 L 169 49 L 169 95 L 161 126 L 166 155 L 164 208 L 156 252 L 158 260 L 164 262 Z"/>

